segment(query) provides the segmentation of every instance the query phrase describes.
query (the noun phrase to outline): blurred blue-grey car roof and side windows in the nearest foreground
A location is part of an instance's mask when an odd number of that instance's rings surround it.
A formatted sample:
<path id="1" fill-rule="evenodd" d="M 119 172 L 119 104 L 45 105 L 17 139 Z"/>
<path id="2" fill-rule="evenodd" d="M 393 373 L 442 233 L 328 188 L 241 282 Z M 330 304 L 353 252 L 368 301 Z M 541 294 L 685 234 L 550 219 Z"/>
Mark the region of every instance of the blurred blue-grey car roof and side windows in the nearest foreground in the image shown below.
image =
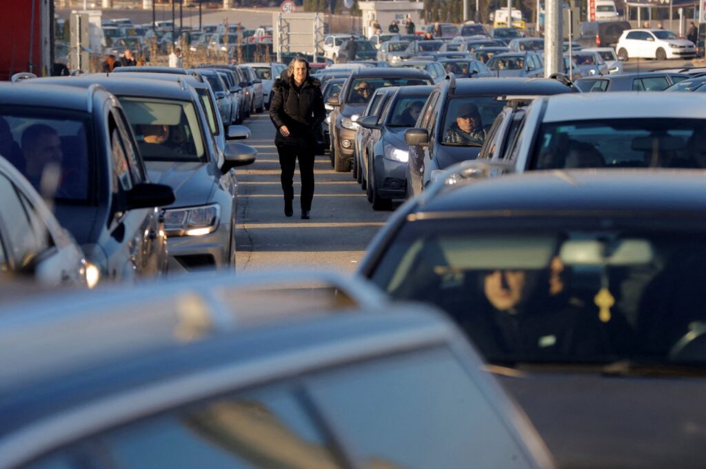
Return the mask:
<path id="1" fill-rule="evenodd" d="M 453 323 L 331 278 L 4 304 L 0 468 L 553 467 Z"/>

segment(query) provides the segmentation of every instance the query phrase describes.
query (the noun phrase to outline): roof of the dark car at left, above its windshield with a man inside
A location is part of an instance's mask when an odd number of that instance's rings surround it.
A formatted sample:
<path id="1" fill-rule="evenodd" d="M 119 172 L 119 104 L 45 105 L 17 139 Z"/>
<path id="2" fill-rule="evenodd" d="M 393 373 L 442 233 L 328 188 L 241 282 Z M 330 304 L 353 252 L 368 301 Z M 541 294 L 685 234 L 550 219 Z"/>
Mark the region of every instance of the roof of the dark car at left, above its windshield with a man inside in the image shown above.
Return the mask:
<path id="1" fill-rule="evenodd" d="M 30 81 L 35 81 L 35 83 L 30 83 Z M 96 88 L 96 90 L 106 93 L 103 88 Z M 4 106 L 55 107 L 89 112 L 89 108 L 92 105 L 89 99 L 91 95 L 88 90 L 83 88 L 64 85 L 51 87 L 41 85 L 35 78 L 23 80 L 19 83 L 0 82 L 0 102 Z"/>

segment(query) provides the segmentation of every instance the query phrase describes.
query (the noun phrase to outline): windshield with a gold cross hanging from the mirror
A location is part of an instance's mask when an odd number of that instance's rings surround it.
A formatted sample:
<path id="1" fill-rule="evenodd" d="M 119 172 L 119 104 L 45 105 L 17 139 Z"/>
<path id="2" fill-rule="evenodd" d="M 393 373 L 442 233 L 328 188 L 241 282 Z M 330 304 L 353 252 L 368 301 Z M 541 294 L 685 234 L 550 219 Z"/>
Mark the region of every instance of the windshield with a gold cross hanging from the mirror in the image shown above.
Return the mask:
<path id="1" fill-rule="evenodd" d="M 441 307 L 490 362 L 706 363 L 701 233 L 599 221 L 526 220 L 522 234 L 492 220 L 407 222 L 372 280 Z"/>

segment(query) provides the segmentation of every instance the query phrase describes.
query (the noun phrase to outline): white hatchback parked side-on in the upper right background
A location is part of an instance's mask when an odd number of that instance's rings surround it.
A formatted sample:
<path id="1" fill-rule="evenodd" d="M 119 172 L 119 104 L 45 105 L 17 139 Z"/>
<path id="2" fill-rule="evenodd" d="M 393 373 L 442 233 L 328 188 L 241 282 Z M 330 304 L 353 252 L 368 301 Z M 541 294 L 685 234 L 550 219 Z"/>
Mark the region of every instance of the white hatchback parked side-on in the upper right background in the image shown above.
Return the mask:
<path id="1" fill-rule="evenodd" d="M 624 62 L 635 57 L 657 60 L 696 57 L 693 42 L 678 39 L 674 32 L 660 29 L 623 31 L 616 52 Z"/>

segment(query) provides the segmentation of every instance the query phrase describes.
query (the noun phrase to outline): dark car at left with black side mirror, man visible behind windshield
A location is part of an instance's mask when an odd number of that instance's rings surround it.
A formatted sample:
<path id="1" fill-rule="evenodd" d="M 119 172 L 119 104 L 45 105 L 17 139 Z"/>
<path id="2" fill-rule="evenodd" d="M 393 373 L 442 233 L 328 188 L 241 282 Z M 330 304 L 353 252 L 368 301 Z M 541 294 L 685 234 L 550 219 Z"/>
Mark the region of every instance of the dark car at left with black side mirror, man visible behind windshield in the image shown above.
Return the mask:
<path id="1" fill-rule="evenodd" d="M 150 183 L 116 97 L 100 85 L 30 82 L 0 83 L 0 116 L 13 140 L 23 153 L 41 157 L 11 159 L 13 165 L 52 200 L 56 219 L 100 278 L 133 280 L 166 271 L 159 207 L 174 202 L 174 193 Z M 37 143 L 41 148 L 33 148 Z"/>

